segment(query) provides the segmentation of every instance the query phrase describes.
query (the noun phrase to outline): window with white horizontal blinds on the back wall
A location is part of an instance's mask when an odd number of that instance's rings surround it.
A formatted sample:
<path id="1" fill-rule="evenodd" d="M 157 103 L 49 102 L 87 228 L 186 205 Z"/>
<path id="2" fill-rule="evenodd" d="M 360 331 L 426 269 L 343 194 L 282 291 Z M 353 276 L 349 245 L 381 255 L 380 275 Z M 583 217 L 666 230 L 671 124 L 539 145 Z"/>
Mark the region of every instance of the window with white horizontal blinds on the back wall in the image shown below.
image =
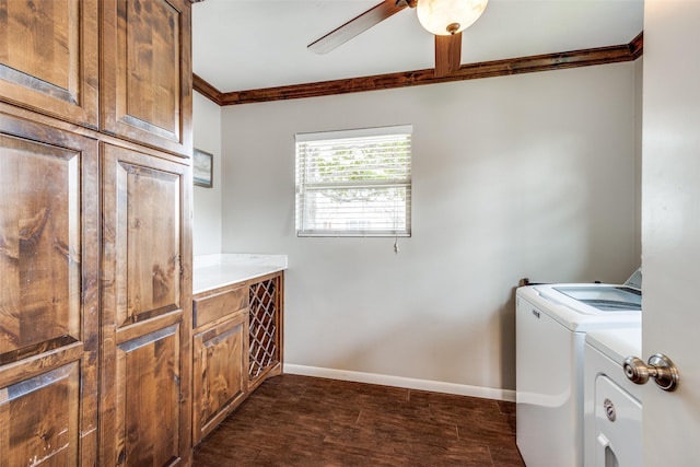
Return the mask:
<path id="1" fill-rule="evenodd" d="M 296 234 L 410 236 L 411 132 L 296 135 Z"/>

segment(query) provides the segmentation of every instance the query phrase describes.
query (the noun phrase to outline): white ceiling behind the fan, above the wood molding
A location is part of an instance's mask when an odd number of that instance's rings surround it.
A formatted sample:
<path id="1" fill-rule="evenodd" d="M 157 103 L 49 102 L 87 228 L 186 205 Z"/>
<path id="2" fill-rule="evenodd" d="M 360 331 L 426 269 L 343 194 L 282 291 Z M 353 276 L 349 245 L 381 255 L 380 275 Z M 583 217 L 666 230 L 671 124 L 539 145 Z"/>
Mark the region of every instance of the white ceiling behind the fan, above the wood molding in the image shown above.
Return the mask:
<path id="1" fill-rule="evenodd" d="M 192 5 L 192 69 L 221 92 L 433 68 L 433 37 L 405 9 L 327 55 L 316 38 L 381 0 L 206 0 Z M 628 44 L 643 0 L 490 0 L 462 63 Z"/>

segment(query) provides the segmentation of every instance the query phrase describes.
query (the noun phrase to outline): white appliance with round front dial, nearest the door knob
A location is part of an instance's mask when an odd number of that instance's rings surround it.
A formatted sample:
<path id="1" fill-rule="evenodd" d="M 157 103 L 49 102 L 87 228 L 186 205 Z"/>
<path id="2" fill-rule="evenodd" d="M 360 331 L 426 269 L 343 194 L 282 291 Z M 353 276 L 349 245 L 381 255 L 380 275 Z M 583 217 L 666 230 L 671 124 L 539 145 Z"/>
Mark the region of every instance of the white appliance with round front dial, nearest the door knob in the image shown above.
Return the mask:
<path id="1" fill-rule="evenodd" d="M 640 326 L 586 334 L 583 462 L 585 467 L 642 465 L 642 386 L 622 371 L 642 352 Z"/>

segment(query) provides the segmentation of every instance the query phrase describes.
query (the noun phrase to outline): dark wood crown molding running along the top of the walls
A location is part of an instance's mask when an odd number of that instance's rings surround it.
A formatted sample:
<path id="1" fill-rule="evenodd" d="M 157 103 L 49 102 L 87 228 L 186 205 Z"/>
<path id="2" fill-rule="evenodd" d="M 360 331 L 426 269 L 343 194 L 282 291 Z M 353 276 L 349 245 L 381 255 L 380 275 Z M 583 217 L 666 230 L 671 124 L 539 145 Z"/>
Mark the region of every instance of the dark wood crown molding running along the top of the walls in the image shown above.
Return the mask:
<path id="1" fill-rule="evenodd" d="M 406 71 L 400 73 L 375 74 L 372 77 L 234 91 L 228 93 L 220 92 L 197 74 L 194 74 L 192 81 L 194 89 L 196 91 L 203 94 L 218 105 L 240 105 L 633 61 L 642 56 L 643 45 L 644 39 L 642 32 L 639 33 L 639 35 L 629 44 L 625 45 L 468 63 L 460 66 L 457 71 L 441 78 L 435 78 L 434 70 L 431 68 L 427 70 Z"/>

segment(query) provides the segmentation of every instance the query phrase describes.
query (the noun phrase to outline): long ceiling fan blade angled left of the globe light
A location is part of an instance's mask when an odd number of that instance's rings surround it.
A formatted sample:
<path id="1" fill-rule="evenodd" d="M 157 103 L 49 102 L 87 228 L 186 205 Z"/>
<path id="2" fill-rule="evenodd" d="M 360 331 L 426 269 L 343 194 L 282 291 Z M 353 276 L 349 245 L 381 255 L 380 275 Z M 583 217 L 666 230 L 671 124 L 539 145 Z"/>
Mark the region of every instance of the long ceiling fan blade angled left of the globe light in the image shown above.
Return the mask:
<path id="1" fill-rule="evenodd" d="M 316 54 L 327 54 L 336 47 L 347 43 L 360 33 L 381 23 L 407 7 L 405 1 L 384 0 L 364 13 L 348 21 L 340 27 L 308 44 L 307 48 Z"/>

